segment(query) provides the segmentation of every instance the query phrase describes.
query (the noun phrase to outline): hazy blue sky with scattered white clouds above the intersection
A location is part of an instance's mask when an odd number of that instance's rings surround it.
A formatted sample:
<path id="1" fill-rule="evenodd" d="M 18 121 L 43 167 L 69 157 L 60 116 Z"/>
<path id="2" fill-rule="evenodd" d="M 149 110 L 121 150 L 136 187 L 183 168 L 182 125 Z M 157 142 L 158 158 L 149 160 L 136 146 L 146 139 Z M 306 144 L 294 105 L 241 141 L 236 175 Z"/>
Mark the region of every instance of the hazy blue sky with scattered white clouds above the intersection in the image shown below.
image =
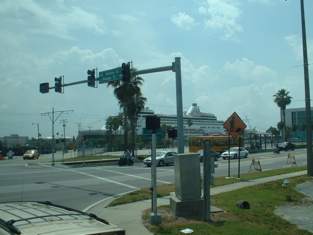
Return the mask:
<path id="1" fill-rule="evenodd" d="M 313 1 L 304 5 L 310 64 Z M 236 112 L 265 132 L 280 121 L 278 90 L 290 92 L 287 108 L 305 107 L 300 0 L 0 0 L 0 137 L 37 138 L 38 126 L 51 137 L 52 120 L 59 138 L 64 124 L 66 137 L 100 129 L 120 112 L 107 84 L 64 94 L 41 94 L 39 84 L 53 87 L 63 75 L 66 84 L 87 80 L 89 69 L 123 62 L 170 66 L 175 57 L 184 110 L 197 103 L 224 121 Z M 175 73 L 140 76 L 146 106 L 176 114 Z"/>

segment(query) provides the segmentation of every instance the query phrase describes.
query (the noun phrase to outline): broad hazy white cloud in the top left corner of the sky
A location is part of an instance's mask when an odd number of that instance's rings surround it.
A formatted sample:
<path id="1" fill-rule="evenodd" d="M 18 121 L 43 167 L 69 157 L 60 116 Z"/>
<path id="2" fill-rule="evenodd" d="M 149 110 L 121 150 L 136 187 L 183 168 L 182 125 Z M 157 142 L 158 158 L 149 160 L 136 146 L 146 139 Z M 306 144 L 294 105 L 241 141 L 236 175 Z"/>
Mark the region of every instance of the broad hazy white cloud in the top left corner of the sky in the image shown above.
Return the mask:
<path id="1" fill-rule="evenodd" d="M 5 0 L 1 5 L 5 14 L 0 19 L 8 24 L 19 21 L 23 25 L 21 31 L 53 35 L 61 39 L 74 39 L 71 31 L 76 29 L 87 29 L 96 35 L 107 31 L 101 18 L 80 7 L 68 8 L 64 6 L 64 2 L 59 1 L 54 6 L 59 11 L 52 11 L 49 7 L 41 6 L 42 3 L 33 0 Z"/>

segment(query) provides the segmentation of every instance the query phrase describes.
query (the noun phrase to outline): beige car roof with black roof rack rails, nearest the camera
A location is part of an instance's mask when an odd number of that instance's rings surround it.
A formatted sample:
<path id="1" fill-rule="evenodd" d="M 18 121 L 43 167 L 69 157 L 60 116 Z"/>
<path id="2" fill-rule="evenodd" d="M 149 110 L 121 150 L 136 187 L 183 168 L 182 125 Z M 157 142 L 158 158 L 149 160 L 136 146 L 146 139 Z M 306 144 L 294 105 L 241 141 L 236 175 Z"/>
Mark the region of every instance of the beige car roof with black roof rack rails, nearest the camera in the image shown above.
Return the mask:
<path id="1" fill-rule="evenodd" d="M 95 214 L 51 202 L 0 203 L 1 235 L 125 235 Z"/>

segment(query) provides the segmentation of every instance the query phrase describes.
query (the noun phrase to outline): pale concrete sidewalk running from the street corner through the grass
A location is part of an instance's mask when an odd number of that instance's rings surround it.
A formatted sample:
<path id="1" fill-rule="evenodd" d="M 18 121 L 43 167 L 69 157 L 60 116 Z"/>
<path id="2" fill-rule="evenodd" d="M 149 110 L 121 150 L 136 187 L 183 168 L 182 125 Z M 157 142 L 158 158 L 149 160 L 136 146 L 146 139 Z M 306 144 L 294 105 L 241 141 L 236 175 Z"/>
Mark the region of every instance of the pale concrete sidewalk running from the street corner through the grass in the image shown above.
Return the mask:
<path id="1" fill-rule="evenodd" d="M 299 172 L 292 172 L 288 174 L 283 175 L 276 175 L 276 176 L 270 176 L 266 178 L 260 178 L 245 182 L 239 182 L 235 184 L 230 185 L 224 185 L 220 187 L 211 188 L 210 192 L 211 195 L 235 190 L 238 188 L 244 188 L 247 186 L 253 186 L 257 184 L 266 183 L 269 181 L 275 181 L 275 180 L 283 180 L 286 178 L 290 178 L 297 175 L 305 175 L 307 174 L 307 171 L 299 171 Z M 283 181 L 282 181 L 283 182 Z M 310 188 L 310 191 L 312 189 Z M 96 208 L 92 208 L 91 211 L 97 214 L 99 217 L 108 219 L 110 223 L 116 225 L 117 227 L 123 228 L 126 230 L 127 235 L 152 235 L 152 233 L 146 229 L 146 227 L 142 224 L 141 215 L 142 211 L 149 209 L 152 207 L 151 200 L 145 200 L 140 202 L 134 202 L 130 204 L 125 205 L 119 205 L 115 207 L 110 208 L 104 208 L 106 205 L 108 205 L 111 200 L 106 200 L 102 202 L 101 204 L 98 204 Z M 157 206 L 161 205 L 169 205 L 170 204 L 170 196 L 157 198 Z M 310 232 L 313 232 L 313 225 L 311 225 L 309 228 L 306 228 Z"/>

